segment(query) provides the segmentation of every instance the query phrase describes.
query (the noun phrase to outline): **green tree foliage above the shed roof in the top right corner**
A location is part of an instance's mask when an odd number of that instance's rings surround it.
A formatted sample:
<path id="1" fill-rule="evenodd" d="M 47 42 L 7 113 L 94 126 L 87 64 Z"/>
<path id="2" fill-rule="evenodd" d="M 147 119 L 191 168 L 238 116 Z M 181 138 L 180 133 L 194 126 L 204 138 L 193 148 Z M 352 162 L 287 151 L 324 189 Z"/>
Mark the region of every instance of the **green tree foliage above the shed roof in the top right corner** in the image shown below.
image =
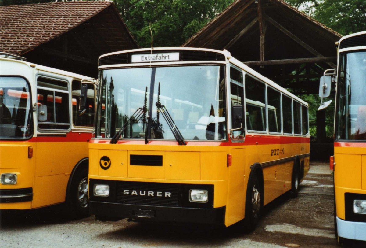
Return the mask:
<path id="1" fill-rule="evenodd" d="M 342 35 L 366 30 L 365 0 L 285 0 Z"/>

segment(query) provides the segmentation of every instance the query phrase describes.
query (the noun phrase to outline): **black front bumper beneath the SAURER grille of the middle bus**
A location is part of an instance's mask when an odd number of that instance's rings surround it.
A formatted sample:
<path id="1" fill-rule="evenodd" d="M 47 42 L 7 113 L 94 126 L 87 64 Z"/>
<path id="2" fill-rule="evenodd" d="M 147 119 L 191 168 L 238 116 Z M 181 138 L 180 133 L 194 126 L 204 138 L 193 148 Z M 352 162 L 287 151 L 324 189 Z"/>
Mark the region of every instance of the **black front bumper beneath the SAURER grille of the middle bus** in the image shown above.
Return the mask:
<path id="1" fill-rule="evenodd" d="M 89 201 L 89 214 L 105 220 L 129 218 L 136 221 L 180 222 L 222 225 L 225 207 L 186 208 L 131 205 Z"/>

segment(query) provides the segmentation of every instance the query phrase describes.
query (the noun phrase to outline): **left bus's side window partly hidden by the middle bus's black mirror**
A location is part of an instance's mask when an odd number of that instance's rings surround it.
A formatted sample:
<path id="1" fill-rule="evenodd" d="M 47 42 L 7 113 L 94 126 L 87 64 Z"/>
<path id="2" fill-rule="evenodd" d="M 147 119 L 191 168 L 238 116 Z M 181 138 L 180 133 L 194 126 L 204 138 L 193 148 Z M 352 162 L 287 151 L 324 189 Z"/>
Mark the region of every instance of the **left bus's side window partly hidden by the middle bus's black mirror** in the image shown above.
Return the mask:
<path id="1" fill-rule="evenodd" d="M 88 87 L 85 113 L 80 115 L 79 111 L 79 96 L 80 96 L 80 81 L 72 81 L 72 123 L 78 127 L 93 127 L 95 113 L 95 87 L 93 84 L 85 84 Z"/>

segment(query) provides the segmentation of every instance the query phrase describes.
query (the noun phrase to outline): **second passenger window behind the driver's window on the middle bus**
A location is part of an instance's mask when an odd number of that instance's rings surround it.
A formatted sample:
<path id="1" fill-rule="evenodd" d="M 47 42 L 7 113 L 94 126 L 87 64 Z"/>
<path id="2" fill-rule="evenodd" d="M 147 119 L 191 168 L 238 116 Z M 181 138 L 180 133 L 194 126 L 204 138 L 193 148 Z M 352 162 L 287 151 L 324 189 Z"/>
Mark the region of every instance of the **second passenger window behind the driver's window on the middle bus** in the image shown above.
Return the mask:
<path id="1" fill-rule="evenodd" d="M 267 99 L 269 132 L 281 132 L 281 93 L 268 87 Z"/>

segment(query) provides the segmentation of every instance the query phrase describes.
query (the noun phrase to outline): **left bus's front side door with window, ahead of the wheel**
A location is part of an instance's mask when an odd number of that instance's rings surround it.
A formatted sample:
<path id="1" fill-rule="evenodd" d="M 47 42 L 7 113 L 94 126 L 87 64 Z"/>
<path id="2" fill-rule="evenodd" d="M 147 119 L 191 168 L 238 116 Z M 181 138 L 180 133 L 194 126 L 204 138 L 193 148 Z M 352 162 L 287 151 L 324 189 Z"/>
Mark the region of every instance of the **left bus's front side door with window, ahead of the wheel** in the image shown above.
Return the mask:
<path id="1" fill-rule="evenodd" d="M 69 87 L 66 80 L 37 78 L 38 134 L 32 208 L 65 201 L 68 178 L 77 163 L 72 161 L 77 149 L 69 142 Z"/>

